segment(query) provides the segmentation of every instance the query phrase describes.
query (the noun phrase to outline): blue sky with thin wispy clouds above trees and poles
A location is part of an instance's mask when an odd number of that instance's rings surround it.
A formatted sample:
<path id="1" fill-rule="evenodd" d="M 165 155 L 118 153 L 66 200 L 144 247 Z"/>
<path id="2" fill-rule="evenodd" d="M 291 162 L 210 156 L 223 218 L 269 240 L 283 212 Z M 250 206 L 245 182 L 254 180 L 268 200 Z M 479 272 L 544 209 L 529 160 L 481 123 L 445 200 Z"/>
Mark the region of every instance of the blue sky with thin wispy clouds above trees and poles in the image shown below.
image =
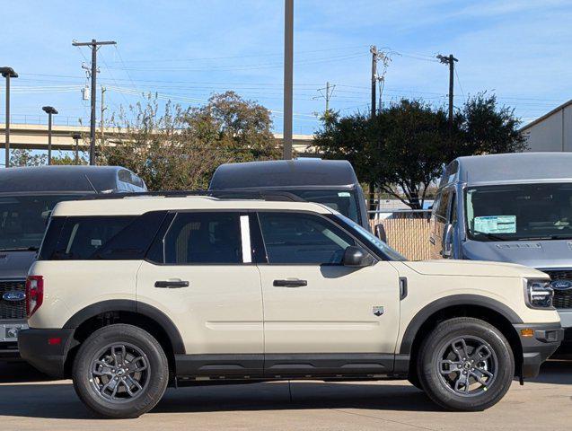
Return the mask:
<path id="1" fill-rule="evenodd" d="M 89 122 L 82 63 L 89 48 L 72 40 L 116 40 L 99 52 L 108 114 L 141 92 L 197 105 L 234 90 L 274 112 L 282 130 L 282 0 L 60 1 L 2 6 L 0 66 L 13 66 L 13 123 Z M 331 108 L 368 110 L 369 46 L 391 52 L 385 102 L 446 102 L 447 67 L 459 58 L 455 104 L 494 92 L 530 121 L 572 98 L 572 1 L 295 0 L 295 133 L 312 133 L 324 109 L 319 89 L 335 84 Z M 4 83 L 0 83 L 4 122 Z M 99 97 L 99 96 L 98 96 Z M 99 113 L 98 113 L 99 119 Z"/>

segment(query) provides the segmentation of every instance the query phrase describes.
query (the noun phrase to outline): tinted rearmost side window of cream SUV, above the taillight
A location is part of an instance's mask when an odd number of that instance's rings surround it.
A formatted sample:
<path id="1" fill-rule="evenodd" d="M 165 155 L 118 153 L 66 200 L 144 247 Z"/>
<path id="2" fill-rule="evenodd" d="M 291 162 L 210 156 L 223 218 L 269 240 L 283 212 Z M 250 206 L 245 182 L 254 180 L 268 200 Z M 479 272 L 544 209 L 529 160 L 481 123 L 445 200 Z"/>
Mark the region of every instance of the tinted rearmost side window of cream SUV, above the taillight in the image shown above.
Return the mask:
<path id="1" fill-rule="evenodd" d="M 40 260 L 144 259 L 165 212 L 54 217 Z"/>

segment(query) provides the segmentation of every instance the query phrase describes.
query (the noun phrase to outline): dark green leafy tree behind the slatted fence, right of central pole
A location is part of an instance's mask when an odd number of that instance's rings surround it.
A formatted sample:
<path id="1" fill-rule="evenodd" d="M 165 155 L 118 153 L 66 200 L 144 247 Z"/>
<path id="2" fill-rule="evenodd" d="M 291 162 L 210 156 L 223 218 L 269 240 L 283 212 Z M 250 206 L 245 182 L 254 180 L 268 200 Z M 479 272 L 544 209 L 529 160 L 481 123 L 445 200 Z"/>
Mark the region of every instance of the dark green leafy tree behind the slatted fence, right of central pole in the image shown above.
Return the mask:
<path id="1" fill-rule="evenodd" d="M 442 107 L 401 100 L 378 113 L 322 119 L 315 145 L 326 158 L 346 159 L 359 180 L 423 207 L 427 190 L 444 164 L 462 155 L 523 151 L 524 138 L 514 110 L 499 107 L 494 95 L 478 94 L 465 102 L 449 127 Z"/>

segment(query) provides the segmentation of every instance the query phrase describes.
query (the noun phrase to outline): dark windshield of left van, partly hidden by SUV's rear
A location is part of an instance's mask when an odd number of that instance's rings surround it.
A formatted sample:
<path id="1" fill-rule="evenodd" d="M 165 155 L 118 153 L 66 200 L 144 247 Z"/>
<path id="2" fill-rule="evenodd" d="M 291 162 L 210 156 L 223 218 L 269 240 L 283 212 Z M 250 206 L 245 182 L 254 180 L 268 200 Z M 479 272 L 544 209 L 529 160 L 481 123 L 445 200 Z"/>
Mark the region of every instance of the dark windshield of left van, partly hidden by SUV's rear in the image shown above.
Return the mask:
<path id="1" fill-rule="evenodd" d="M 38 250 L 50 211 L 78 195 L 0 197 L 0 251 Z"/>

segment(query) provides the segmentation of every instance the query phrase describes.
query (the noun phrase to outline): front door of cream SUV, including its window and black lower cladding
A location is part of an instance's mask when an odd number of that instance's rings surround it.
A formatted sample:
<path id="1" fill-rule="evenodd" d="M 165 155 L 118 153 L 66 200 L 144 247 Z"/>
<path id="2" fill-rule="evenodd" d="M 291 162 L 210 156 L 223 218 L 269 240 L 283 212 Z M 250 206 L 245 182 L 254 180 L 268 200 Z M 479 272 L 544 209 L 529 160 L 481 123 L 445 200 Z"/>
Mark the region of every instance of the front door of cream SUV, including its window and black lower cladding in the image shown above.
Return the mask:
<path id="1" fill-rule="evenodd" d="M 341 265 L 358 245 L 329 219 L 260 212 L 267 374 L 389 372 L 399 330 L 399 275 L 387 261 Z"/>

